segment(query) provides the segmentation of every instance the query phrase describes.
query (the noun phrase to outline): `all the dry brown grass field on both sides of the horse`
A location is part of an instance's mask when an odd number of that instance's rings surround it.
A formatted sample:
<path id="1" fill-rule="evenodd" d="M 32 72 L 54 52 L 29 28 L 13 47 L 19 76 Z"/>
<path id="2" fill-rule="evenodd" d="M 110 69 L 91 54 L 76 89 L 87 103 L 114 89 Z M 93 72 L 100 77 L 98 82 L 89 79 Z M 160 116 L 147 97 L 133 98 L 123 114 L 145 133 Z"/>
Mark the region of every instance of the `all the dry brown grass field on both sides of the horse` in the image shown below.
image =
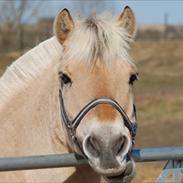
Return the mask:
<path id="1" fill-rule="evenodd" d="M 177 40 L 133 45 L 131 54 L 139 68 L 135 86 L 139 129 L 137 147 L 183 145 L 183 42 Z M 18 57 L 2 55 L 0 74 Z M 134 183 L 151 183 L 163 168 L 162 162 L 138 163 Z"/>

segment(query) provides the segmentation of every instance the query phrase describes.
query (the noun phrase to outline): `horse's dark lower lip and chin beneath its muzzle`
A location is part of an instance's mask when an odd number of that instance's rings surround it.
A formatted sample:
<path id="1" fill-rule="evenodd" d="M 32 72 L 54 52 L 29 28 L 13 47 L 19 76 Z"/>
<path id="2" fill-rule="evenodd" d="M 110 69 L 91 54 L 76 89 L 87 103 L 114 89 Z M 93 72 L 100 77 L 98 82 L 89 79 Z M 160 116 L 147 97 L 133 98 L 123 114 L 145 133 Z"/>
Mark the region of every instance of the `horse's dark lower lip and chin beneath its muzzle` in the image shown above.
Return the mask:
<path id="1" fill-rule="evenodd" d="M 121 174 L 109 177 L 104 176 L 104 179 L 108 183 L 129 183 L 134 178 L 135 172 L 135 163 L 133 160 L 130 160 L 127 162 L 126 168 Z"/>

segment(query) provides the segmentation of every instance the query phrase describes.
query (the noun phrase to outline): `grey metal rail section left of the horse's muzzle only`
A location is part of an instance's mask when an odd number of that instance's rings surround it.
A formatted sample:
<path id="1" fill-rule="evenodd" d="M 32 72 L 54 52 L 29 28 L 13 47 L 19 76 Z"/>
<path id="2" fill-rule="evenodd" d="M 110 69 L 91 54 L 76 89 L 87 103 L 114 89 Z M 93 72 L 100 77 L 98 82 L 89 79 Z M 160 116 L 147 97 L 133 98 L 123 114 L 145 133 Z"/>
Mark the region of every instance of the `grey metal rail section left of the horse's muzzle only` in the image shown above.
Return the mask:
<path id="1" fill-rule="evenodd" d="M 60 154 L 25 157 L 0 158 L 0 172 L 14 170 L 31 170 L 44 168 L 71 167 L 87 164 L 80 155 Z"/>

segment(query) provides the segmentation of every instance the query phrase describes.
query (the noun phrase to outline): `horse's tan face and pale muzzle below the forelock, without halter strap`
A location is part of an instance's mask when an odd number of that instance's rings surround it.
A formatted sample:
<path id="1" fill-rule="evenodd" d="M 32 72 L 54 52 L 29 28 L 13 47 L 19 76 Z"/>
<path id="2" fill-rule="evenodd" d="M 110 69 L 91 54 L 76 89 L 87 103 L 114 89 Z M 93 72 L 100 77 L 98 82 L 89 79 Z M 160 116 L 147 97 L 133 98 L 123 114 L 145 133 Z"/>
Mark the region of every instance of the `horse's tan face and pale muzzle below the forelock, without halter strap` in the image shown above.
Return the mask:
<path id="1" fill-rule="evenodd" d="M 63 90 L 70 119 L 74 119 L 91 100 L 108 97 L 116 100 L 130 120 L 135 121 L 132 82 L 137 71 L 134 65 L 116 61 L 110 69 L 98 65 L 88 70 L 85 65 L 72 64 L 62 71 L 64 77 L 69 78 Z M 116 179 L 124 171 L 133 174 L 134 163 L 128 157 L 132 147 L 131 135 L 123 118 L 111 105 L 101 104 L 89 111 L 79 124 L 76 136 L 97 172 L 111 179 L 113 176 Z M 70 144 L 73 147 L 72 142 Z"/>

